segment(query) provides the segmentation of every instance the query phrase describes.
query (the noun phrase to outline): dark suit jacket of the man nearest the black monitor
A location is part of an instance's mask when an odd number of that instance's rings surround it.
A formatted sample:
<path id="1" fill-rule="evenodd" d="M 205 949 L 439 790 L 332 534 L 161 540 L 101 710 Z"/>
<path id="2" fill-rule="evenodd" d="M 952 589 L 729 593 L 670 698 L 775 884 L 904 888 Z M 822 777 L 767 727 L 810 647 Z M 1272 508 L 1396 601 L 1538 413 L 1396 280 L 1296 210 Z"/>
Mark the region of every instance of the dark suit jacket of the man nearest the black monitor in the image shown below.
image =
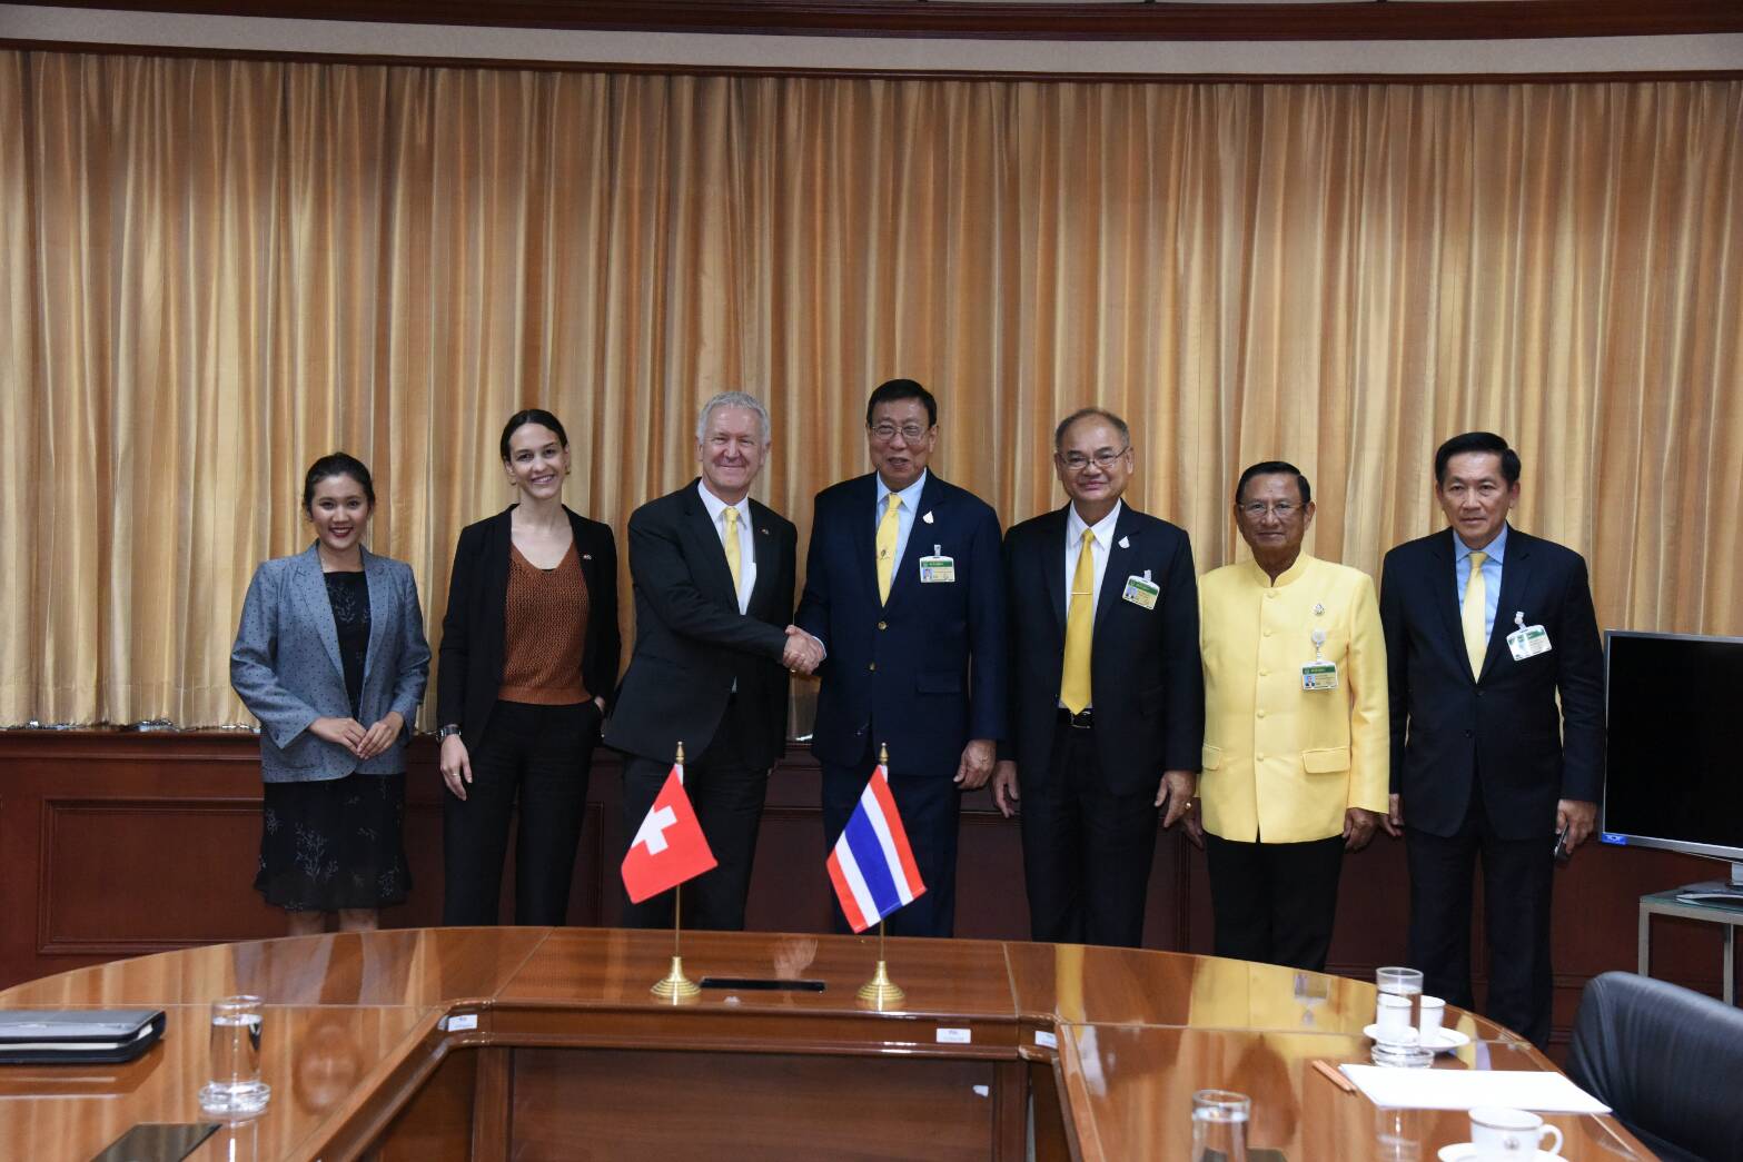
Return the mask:
<path id="1" fill-rule="evenodd" d="M 1380 570 L 1391 789 L 1405 822 L 1429 834 L 1459 829 L 1478 782 L 1499 838 L 1551 834 L 1558 800 L 1595 803 L 1604 786 L 1604 653 L 1586 561 L 1508 530 L 1495 625 L 1471 678 L 1452 537 L 1448 528 L 1398 545 Z M 1515 611 L 1550 632 L 1548 653 L 1513 660 Z"/>

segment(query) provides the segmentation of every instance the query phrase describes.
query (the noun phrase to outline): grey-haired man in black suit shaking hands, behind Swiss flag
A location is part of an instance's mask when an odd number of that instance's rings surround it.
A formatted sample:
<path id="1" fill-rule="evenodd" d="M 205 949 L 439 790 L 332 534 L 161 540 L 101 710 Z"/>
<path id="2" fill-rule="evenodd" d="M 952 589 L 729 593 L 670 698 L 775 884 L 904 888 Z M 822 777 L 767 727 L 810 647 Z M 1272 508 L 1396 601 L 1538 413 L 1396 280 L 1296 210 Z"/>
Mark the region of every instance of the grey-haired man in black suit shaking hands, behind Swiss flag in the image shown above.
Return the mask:
<path id="1" fill-rule="evenodd" d="M 697 929 L 743 929 L 769 768 L 786 740 L 788 671 L 810 672 L 816 643 L 790 627 L 791 521 L 749 498 L 769 455 L 769 411 L 715 395 L 695 425 L 702 476 L 629 516 L 636 650 L 605 723 L 624 751 L 624 834 L 636 834 L 675 751 L 718 866 L 687 894 Z M 627 904 L 624 925 L 671 923 L 673 897 Z"/>

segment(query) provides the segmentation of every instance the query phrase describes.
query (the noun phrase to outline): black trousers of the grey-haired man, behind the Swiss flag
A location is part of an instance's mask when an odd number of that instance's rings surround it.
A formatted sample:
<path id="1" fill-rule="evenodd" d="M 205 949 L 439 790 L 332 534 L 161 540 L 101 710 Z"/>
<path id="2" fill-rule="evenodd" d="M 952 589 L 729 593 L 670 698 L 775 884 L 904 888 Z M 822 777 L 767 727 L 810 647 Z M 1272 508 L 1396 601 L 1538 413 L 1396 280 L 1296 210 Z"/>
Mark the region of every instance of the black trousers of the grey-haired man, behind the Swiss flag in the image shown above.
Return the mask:
<path id="1" fill-rule="evenodd" d="M 695 761 L 683 765 L 683 791 L 702 824 L 716 866 L 683 885 L 683 927 L 723 932 L 744 930 L 744 901 L 756 857 L 756 829 L 769 794 L 769 770 L 744 761 L 744 704 L 727 702 L 715 737 Z M 624 836 L 633 840 L 648 808 L 666 786 L 671 758 L 624 758 Z M 821 875 L 821 868 L 819 868 Z M 619 888 L 621 890 L 621 888 Z M 626 929 L 669 929 L 673 892 L 640 904 L 624 895 Z"/>

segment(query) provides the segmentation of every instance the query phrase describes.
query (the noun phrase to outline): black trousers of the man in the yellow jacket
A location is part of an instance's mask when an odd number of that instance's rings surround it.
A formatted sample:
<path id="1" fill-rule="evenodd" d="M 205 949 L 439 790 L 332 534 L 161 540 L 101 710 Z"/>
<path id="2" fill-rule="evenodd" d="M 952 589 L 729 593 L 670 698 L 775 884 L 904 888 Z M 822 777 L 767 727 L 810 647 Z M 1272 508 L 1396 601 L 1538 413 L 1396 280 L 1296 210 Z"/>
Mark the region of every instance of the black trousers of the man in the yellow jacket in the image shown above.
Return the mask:
<path id="1" fill-rule="evenodd" d="M 1241 843 L 1206 831 L 1204 855 L 1218 956 L 1325 972 L 1344 869 L 1342 834 Z"/>

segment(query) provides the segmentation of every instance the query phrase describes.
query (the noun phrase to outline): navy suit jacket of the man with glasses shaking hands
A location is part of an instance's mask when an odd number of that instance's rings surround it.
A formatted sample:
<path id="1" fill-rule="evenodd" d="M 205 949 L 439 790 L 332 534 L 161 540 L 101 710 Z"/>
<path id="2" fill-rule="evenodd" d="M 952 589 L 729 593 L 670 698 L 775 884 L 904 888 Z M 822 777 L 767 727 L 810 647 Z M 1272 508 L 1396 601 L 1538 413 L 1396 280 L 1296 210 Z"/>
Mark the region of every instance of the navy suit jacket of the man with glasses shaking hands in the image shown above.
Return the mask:
<path id="1" fill-rule="evenodd" d="M 955 582 L 920 584 L 933 547 Z M 926 477 L 913 530 L 877 594 L 877 477 L 817 493 L 795 624 L 828 650 L 810 742 L 823 763 L 851 767 L 889 744 L 901 774 L 955 777 L 971 739 L 1004 739 L 1004 585 L 999 517 L 938 474 Z"/>

